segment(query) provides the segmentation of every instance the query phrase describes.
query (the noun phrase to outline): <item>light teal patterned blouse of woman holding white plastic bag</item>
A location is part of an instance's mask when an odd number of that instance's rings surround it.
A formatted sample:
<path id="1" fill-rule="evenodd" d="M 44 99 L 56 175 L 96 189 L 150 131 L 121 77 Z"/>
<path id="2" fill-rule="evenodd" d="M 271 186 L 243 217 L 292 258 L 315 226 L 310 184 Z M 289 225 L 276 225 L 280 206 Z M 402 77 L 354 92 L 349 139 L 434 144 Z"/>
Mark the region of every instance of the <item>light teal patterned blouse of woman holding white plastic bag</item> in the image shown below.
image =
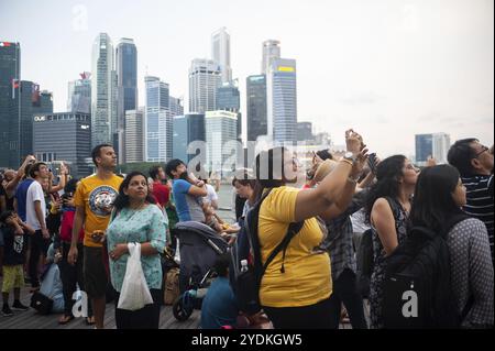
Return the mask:
<path id="1" fill-rule="evenodd" d="M 165 218 L 155 205 L 134 210 L 123 208 L 107 229 L 108 252 L 111 252 L 117 244 L 129 242 L 150 242 L 160 253 L 165 248 Z M 117 292 L 122 289 L 123 278 L 129 254 L 123 254 L 119 260 L 110 260 L 110 278 Z M 160 254 L 141 255 L 144 276 L 147 286 L 152 289 L 162 288 L 162 264 Z"/>

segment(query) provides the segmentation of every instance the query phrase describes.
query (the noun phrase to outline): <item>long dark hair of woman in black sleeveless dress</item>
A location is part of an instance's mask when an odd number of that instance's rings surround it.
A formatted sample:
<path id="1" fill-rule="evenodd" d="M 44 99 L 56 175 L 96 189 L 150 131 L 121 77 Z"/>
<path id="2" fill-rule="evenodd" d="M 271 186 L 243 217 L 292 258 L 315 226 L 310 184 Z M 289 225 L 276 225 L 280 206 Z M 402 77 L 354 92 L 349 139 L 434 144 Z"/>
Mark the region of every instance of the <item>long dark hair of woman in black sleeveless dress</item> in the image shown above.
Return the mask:
<path id="1" fill-rule="evenodd" d="M 366 222 L 370 223 L 373 205 L 381 197 L 397 198 L 399 191 L 399 178 L 403 175 L 406 156 L 394 155 L 382 161 L 376 167 L 376 183 L 367 193 L 364 211 Z"/>

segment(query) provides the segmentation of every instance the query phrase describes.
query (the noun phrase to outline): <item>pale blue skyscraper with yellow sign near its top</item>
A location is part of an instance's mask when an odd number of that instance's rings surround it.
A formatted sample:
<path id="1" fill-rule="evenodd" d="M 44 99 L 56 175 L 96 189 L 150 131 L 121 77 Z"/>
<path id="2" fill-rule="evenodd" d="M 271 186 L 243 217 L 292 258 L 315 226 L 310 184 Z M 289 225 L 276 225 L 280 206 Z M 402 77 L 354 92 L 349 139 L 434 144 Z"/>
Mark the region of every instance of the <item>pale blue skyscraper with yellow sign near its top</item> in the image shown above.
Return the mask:
<path id="1" fill-rule="evenodd" d="M 274 142 L 295 142 L 297 127 L 296 61 L 274 58 L 268 69 L 267 132 Z"/>

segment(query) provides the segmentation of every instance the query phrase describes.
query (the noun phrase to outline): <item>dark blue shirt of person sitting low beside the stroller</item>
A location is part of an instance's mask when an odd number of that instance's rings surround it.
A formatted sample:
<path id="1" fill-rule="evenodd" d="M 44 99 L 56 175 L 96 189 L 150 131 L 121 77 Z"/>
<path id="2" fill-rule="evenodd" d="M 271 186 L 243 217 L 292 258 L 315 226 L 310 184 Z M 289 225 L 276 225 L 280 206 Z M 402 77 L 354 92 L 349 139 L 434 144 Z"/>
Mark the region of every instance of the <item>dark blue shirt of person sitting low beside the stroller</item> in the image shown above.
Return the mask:
<path id="1" fill-rule="evenodd" d="M 201 305 L 201 328 L 220 329 L 235 326 L 239 307 L 227 277 L 218 277 L 211 283 Z"/>

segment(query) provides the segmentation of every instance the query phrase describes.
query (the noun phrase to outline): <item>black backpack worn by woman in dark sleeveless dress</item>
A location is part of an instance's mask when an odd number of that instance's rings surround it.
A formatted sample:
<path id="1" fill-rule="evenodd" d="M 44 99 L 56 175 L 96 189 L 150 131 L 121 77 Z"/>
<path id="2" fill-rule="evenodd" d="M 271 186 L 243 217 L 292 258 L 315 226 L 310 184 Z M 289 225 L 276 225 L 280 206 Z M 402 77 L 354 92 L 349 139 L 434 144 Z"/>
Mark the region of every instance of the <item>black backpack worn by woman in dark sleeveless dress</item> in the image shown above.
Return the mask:
<path id="1" fill-rule="evenodd" d="M 391 197 L 385 197 L 391 206 L 394 219 L 397 220 L 400 208 L 397 201 Z M 367 229 L 361 237 L 356 252 L 356 285 L 358 292 L 363 297 L 370 296 L 370 282 L 375 266 L 375 256 L 373 251 L 373 230 Z"/>

